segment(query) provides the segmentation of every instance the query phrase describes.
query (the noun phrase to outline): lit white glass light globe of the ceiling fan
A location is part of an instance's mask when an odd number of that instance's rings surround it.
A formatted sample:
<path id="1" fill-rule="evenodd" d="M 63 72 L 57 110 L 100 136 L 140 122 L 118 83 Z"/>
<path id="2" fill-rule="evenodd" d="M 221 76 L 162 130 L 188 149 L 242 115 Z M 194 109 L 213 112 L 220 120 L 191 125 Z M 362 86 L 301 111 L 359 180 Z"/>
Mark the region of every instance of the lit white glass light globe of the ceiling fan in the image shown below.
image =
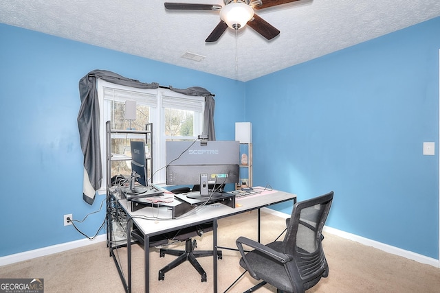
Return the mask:
<path id="1" fill-rule="evenodd" d="M 254 10 L 245 3 L 229 3 L 220 10 L 220 18 L 234 30 L 244 27 L 252 16 L 254 16 Z"/>

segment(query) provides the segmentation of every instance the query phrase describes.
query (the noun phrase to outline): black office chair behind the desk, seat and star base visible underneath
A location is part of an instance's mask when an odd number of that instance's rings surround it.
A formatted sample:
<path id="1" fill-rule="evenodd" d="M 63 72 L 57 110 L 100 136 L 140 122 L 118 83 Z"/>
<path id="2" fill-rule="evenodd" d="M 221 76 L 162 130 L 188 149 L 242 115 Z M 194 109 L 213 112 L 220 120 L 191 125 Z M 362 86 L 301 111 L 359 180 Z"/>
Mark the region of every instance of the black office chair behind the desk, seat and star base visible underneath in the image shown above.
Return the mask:
<path id="1" fill-rule="evenodd" d="M 174 194 L 185 193 L 191 191 L 188 187 L 182 187 L 179 189 L 173 189 L 171 192 Z M 188 228 L 183 228 L 179 231 L 173 231 L 168 233 L 168 239 L 171 241 L 177 240 L 180 242 L 185 242 L 185 250 L 175 250 L 175 249 L 166 249 L 161 248 L 159 256 L 165 257 L 165 255 L 175 255 L 177 259 L 169 263 L 167 266 L 164 266 L 161 270 L 159 270 L 159 281 L 165 279 L 165 273 L 172 270 L 173 268 L 179 266 L 179 264 L 184 263 L 184 261 L 190 261 L 192 266 L 199 272 L 201 275 L 201 281 L 206 282 L 206 272 L 201 267 L 199 261 L 197 261 L 197 257 L 208 257 L 213 255 L 212 250 L 194 250 L 197 247 L 196 240 L 192 240 L 192 237 L 201 236 L 203 233 L 208 231 L 212 231 L 212 223 L 199 224 L 197 226 L 190 226 Z M 217 258 L 221 259 L 222 254 L 221 250 L 217 250 Z"/>

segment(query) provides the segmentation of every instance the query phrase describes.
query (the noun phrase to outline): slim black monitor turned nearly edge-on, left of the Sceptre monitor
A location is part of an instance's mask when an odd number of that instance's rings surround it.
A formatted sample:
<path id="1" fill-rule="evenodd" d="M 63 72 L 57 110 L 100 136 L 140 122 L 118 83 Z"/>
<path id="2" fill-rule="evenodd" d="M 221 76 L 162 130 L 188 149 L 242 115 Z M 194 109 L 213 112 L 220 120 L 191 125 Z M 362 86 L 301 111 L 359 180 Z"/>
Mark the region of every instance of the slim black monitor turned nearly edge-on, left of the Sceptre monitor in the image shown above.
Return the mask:
<path id="1" fill-rule="evenodd" d="M 131 148 L 131 178 L 128 194 L 142 194 L 148 186 L 148 176 L 145 159 L 145 143 L 144 141 L 130 141 Z M 135 183 L 142 186 L 136 186 Z"/>

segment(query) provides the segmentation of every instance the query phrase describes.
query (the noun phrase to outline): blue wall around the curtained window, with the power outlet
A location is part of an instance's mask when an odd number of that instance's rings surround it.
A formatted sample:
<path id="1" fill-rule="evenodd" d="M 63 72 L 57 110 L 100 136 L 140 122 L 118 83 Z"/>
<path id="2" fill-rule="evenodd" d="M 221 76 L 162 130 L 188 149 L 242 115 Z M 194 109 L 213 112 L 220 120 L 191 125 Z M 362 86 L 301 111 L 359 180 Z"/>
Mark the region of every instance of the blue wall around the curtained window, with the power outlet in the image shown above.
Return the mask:
<path id="1" fill-rule="evenodd" d="M 208 89 L 216 95 L 218 139 L 234 139 L 234 122 L 244 119 L 236 106 L 244 102 L 243 82 L 3 24 L 0 44 L 0 257 L 82 239 L 72 226 L 63 226 L 63 215 L 82 220 L 104 200 L 98 196 L 89 206 L 82 199 L 76 117 L 78 82 L 89 71 Z M 104 209 L 78 224 L 80 229 L 93 236 Z"/>

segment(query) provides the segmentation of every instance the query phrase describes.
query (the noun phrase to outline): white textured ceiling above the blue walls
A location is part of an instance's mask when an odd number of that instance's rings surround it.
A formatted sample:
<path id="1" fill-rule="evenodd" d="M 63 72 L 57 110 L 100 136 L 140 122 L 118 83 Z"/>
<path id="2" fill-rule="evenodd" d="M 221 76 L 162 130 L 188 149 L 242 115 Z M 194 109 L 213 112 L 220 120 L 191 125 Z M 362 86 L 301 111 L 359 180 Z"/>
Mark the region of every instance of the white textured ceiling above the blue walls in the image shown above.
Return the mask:
<path id="1" fill-rule="evenodd" d="M 162 0 L 0 0 L 1 23 L 241 81 L 440 16 L 440 0 L 300 0 L 256 13 L 281 34 L 267 41 L 243 27 L 205 43 L 219 12 L 170 12 Z"/>

